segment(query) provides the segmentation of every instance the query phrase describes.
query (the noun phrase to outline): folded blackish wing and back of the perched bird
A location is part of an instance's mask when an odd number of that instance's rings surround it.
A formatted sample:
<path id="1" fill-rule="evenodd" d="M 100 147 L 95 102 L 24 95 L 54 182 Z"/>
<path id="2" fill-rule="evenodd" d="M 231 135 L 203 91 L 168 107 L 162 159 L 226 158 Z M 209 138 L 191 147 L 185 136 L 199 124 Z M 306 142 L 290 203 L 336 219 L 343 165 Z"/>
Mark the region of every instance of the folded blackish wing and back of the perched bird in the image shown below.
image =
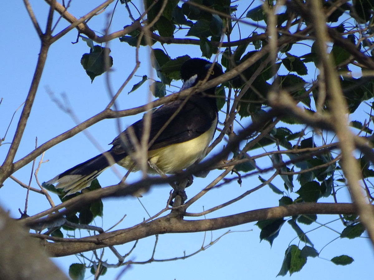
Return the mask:
<path id="1" fill-rule="evenodd" d="M 182 143 L 194 139 L 213 125 L 217 125 L 217 109 L 214 108 L 215 99 L 205 97 L 198 98 L 192 96 L 183 106 L 180 112 L 170 121 L 170 123 L 162 130 L 159 136 L 153 141 L 149 150 L 159 149 L 171 144 Z M 149 140 L 151 141 L 162 129 L 163 125 L 172 117 L 174 112 L 180 108 L 183 100 L 177 100 L 161 106 L 151 113 L 151 128 Z M 127 153 L 132 149 L 132 142 L 129 134 L 130 130 L 134 131 L 139 141 L 144 132 L 143 119 L 135 122 L 123 131 L 112 141 L 112 152 L 117 154 Z"/>

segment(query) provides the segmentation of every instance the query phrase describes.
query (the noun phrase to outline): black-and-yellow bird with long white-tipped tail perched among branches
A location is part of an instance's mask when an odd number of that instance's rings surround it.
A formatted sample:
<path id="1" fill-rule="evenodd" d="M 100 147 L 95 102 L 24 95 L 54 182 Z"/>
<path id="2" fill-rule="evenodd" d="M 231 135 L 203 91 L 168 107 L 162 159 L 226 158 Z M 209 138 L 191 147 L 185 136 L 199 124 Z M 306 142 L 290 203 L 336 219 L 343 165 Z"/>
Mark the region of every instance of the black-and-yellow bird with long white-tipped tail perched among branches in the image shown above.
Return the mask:
<path id="1" fill-rule="evenodd" d="M 222 74 L 218 63 L 212 65 L 205 59 L 188 59 L 180 69 L 181 90 Z M 147 172 L 156 173 L 158 169 L 164 174 L 175 174 L 205 157 L 218 124 L 215 88 L 166 103 L 150 113 L 147 152 L 150 167 Z M 62 189 L 68 196 L 89 187 L 101 172 L 115 163 L 137 171 L 139 167 L 131 154 L 135 150 L 134 142 L 140 141 L 143 135 L 144 123 L 142 118 L 130 125 L 110 143 L 113 145 L 110 150 L 62 172 L 46 184 L 57 183 L 55 188 Z"/>

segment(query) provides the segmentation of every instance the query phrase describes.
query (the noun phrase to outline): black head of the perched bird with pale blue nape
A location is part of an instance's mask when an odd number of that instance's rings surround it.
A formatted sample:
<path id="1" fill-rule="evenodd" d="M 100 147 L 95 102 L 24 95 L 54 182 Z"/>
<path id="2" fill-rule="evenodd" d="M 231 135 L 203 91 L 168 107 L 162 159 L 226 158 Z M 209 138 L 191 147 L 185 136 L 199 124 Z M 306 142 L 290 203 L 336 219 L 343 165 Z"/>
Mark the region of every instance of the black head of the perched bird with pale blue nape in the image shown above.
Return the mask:
<path id="1" fill-rule="evenodd" d="M 199 81 L 204 80 L 211 66 L 211 62 L 201 58 L 191 58 L 184 62 L 181 66 L 181 79 L 183 81 L 182 90 L 193 87 Z M 213 69 L 209 73 L 208 81 L 222 74 L 222 66 L 215 63 Z"/>

